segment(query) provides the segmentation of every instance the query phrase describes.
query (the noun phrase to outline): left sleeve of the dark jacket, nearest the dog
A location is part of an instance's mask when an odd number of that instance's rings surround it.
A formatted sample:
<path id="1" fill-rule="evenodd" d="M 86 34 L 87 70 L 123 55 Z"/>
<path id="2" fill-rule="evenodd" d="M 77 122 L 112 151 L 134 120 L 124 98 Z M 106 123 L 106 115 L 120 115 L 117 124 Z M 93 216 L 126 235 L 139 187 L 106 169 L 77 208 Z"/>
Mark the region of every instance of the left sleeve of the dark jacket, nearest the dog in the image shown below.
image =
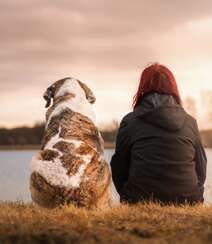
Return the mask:
<path id="1" fill-rule="evenodd" d="M 130 137 L 127 122 L 122 120 L 116 138 L 115 154 L 111 160 L 112 178 L 120 194 L 122 187 L 128 179 L 130 162 Z"/>

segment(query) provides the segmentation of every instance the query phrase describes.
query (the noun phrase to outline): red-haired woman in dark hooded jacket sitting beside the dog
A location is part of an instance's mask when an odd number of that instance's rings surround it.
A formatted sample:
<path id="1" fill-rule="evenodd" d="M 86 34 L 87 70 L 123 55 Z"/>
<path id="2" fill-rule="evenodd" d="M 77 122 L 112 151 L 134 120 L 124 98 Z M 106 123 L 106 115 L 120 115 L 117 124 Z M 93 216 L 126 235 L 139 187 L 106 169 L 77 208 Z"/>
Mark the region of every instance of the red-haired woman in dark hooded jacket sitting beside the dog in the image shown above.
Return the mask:
<path id="1" fill-rule="evenodd" d="M 133 105 L 120 124 L 111 161 L 121 201 L 203 202 L 207 159 L 172 72 L 157 63 L 146 68 Z"/>

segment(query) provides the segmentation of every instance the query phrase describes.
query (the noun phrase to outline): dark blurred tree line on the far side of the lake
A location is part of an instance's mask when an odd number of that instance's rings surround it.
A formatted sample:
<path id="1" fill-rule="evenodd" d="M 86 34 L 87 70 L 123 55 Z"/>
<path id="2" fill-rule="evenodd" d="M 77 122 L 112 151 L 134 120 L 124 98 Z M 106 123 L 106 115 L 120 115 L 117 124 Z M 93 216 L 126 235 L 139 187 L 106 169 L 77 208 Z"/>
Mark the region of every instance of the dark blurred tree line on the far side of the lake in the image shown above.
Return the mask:
<path id="1" fill-rule="evenodd" d="M 118 132 L 118 123 L 100 130 L 105 142 L 114 143 Z M 44 123 L 37 123 L 33 127 L 17 127 L 13 129 L 0 128 L 1 146 L 40 145 L 44 133 Z M 212 147 L 212 129 L 200 132 L 205 147 Z"/>

